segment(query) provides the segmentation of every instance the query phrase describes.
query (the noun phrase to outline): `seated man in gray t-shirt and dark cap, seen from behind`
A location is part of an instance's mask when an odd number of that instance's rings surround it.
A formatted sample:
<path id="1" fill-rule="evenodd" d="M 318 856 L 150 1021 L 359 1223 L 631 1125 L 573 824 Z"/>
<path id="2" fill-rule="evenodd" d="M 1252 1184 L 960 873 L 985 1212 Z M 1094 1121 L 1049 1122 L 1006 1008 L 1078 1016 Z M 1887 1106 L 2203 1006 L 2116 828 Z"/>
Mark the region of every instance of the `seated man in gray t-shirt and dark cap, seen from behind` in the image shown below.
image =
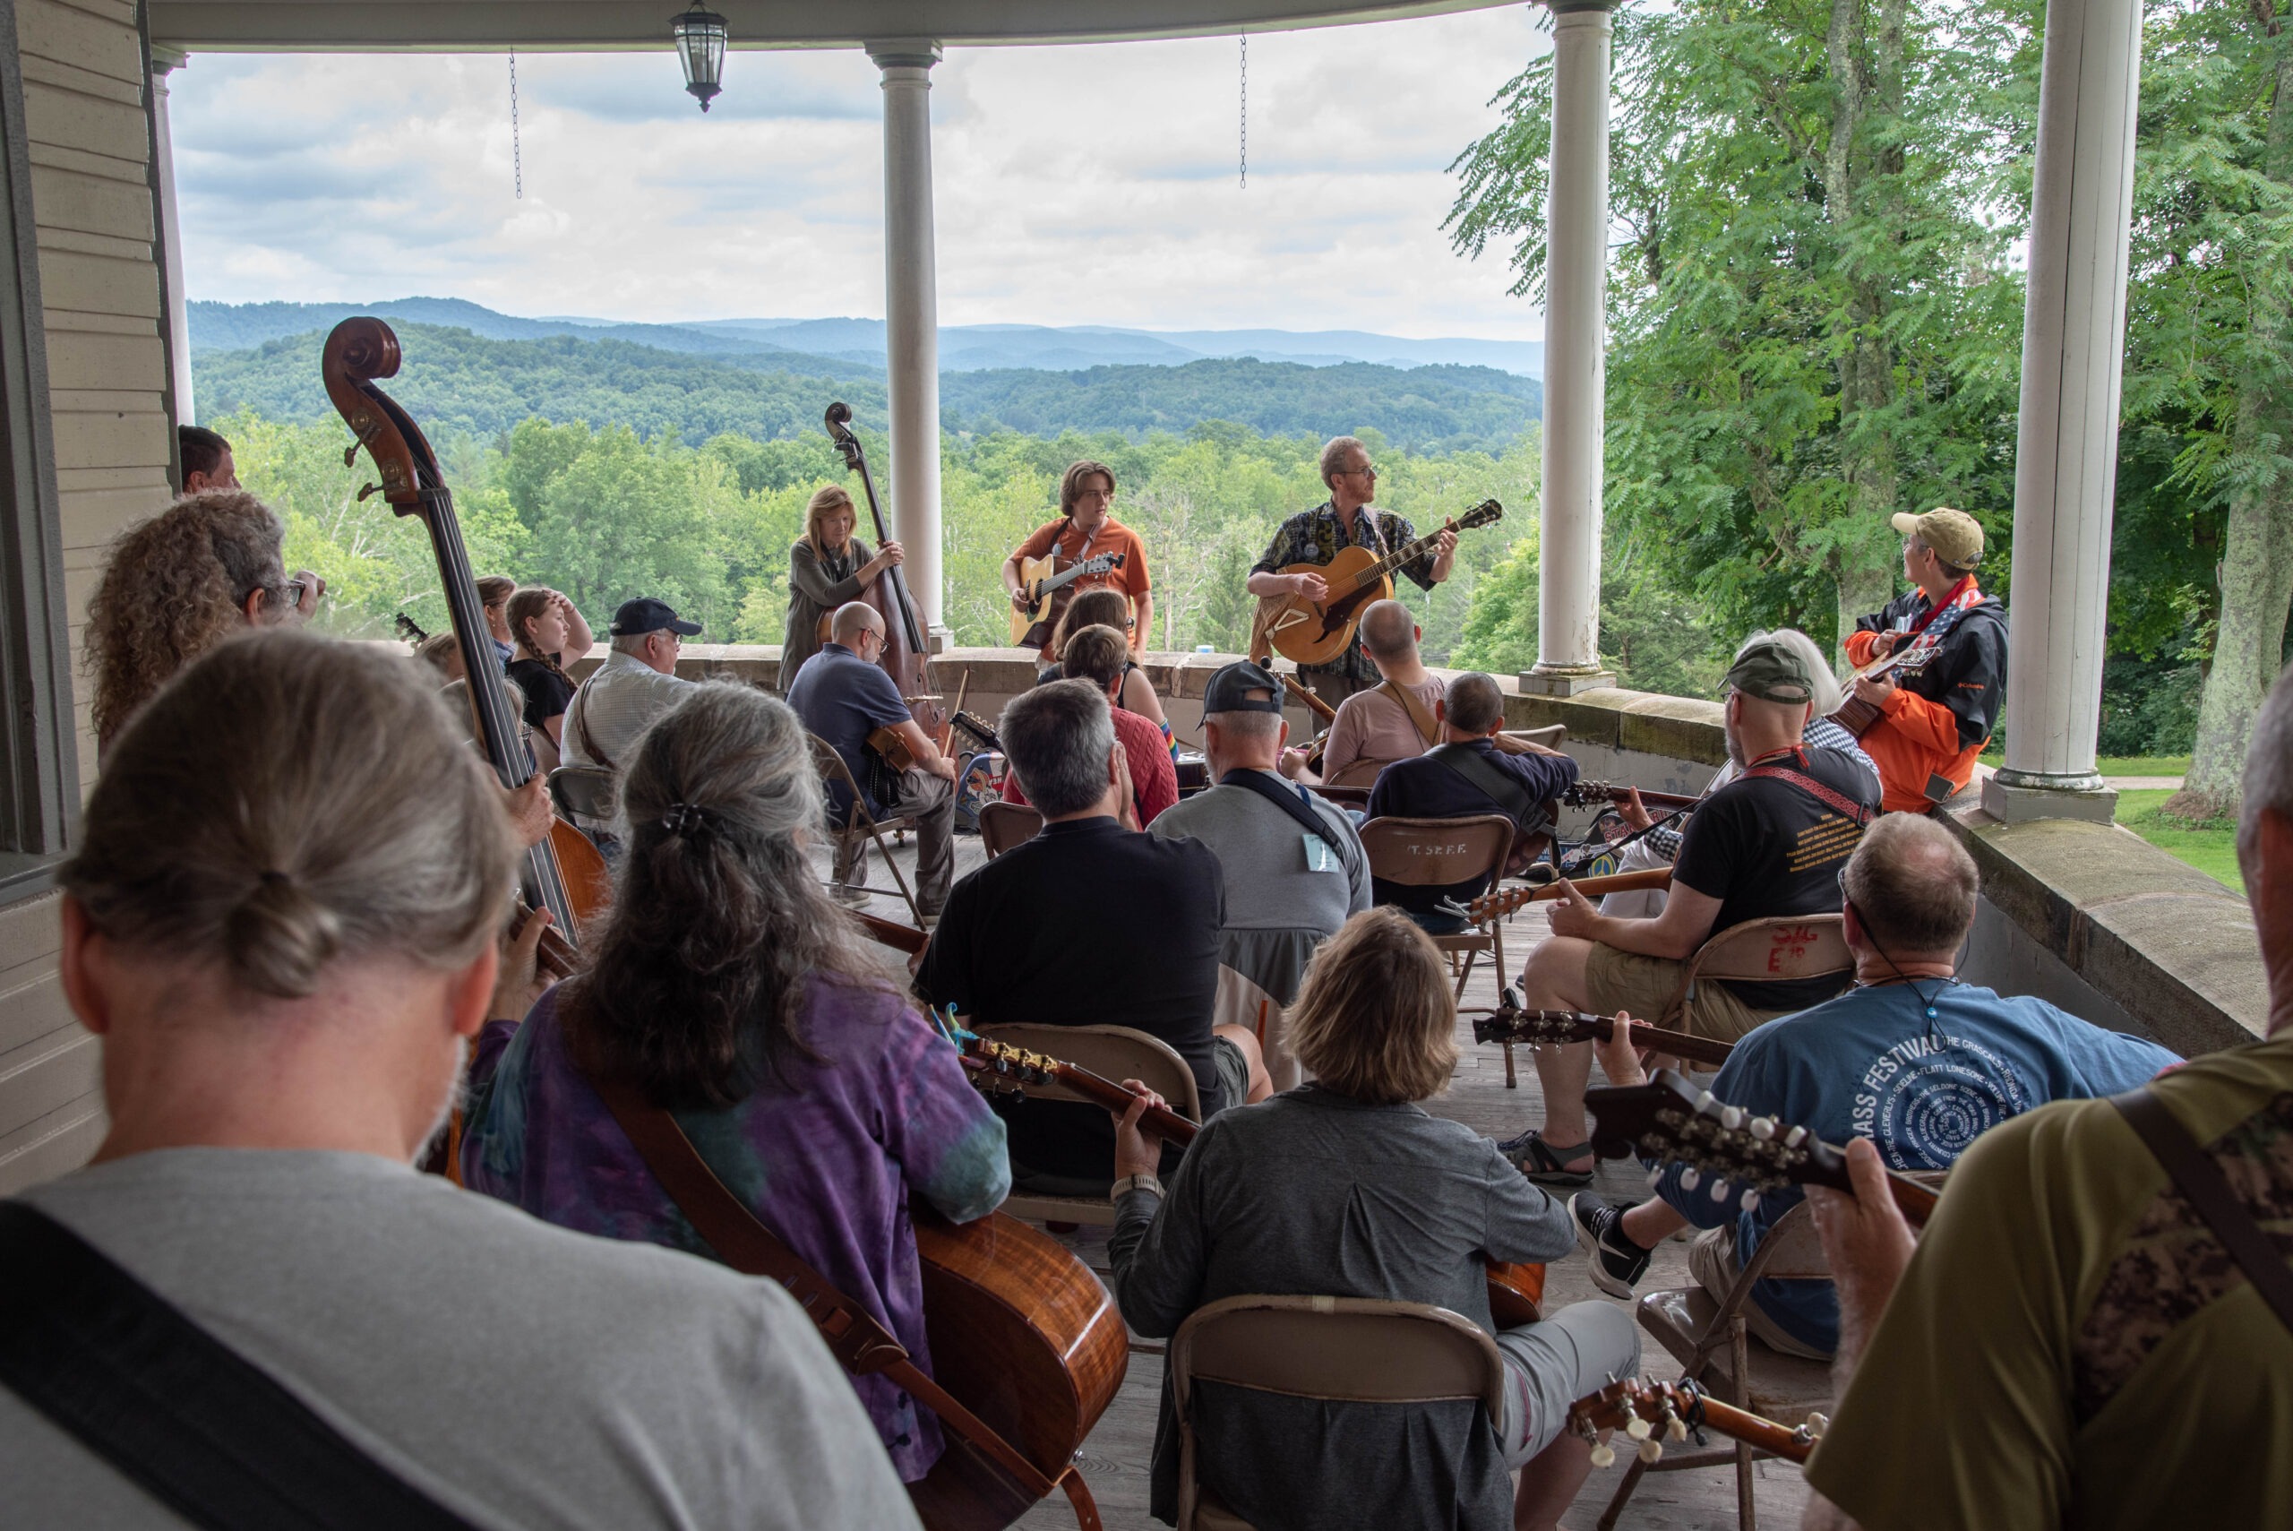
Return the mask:
<path id="1" fill-rule="evenodd" d="M 1227 885 L 1220 963 L 1275 1004 L 1298 995 L 1314 947 L 1369 908 L 1362 837 L 1344 811 L 1279 775 L 1284 738 L 1282 681 L 1250 660 L 1227 665 L 1202 694 L 1202 740 L 1218 786 L 1163 809 L 1146 827 L 1218 853 Z M 1321 830 L 1307 830 L 1268 791 L 1296 800 Z"/>

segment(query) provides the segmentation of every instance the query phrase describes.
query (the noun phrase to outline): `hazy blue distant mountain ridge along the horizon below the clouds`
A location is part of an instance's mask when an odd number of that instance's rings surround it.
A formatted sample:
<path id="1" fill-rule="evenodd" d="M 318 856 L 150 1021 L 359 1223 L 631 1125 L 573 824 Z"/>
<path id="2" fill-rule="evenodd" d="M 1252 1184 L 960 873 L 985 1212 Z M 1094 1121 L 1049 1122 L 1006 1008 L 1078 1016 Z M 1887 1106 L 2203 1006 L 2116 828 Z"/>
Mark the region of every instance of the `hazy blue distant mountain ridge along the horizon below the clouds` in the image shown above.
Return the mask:
<path id="1" fill-rule="evenodd" d="M 688 355 L 777 355 L 805 371 L 832 376 L 821 362 L 883 367 L 881 319 L 702 319 L 690 323 L 619 323 L 610 319 L 518 319 L 461 298 L 385 303 L 193 303 L 190 351 L 248 351 L 289 335 L 332 328 L 351 314 L 452 325 L 484 339 L 619 339 Z M 1112 325 L 945 325 L 940 371 L 1089 367 L 1183 367 L 1215 358 L 1257 358 L 1302 367 L 1374 362 L 1380 367 L 1486 367 L 1541 378 L 1541 341 L 1406 339 L 1367 330 L 1126 330 Z"/>

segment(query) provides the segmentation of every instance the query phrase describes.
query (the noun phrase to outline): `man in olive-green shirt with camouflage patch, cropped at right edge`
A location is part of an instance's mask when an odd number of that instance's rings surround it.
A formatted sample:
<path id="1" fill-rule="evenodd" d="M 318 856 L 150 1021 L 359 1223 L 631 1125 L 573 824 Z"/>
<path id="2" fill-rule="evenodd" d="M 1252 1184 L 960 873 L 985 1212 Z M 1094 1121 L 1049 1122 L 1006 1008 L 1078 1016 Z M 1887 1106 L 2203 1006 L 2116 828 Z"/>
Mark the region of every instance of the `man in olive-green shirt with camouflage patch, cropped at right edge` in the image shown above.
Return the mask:
<path id="1" fill-rule="evenodd" d="M 2293 1249 L 2293 674 L 2238 827 L 2268 1038 L 2149 1086 L 2284 1261 Z M 1809 1526 L 2293 1524 L 2293 1329 L 2107 1100 L 1983 1132 L 1912 1240 L 1880 1160 L 1811 1190 L 1853 1373 L 1807 1462 Z M 1917 1249 L 1917 1254 L 1912 1254 Z M 1905 1270 L 1908 1267 L 1908 1270 Z"/>

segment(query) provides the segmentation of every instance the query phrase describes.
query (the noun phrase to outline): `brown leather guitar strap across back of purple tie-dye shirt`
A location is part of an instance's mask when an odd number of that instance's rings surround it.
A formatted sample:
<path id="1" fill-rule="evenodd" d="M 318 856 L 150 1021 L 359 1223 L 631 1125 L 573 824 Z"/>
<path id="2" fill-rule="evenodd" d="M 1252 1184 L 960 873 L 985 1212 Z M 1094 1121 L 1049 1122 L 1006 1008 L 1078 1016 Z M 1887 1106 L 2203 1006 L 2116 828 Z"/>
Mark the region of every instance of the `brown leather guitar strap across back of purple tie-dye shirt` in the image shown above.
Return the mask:
<path id="1" fill-rule="evenodd" d="M 605 1109 L 612 1112 L 612 1118 L 621 1125 L 631 1146 L 635 1146 L 637 1157 L 660 1180 L 660 1190 L 670 1194 L 670 1201 L 676 1203 L 676 1210 L 686 1215 L 692 1228 L 709 1240 L 718 1258 L 745 1277 L 764 1277 L 784 1286 L 798 1306 L 805 1309 L 805 1318 L 819 1327 L 821 1338 L 828 1341 L 828 1352 L 837 1357 L 844 1371 L 855 1377 L 878 1373 L 890 1377 L 1036 1499 L 1050 1497 L 1055 1487 L 1066 1487 L 1082 1531 L 1101 1531 L 1098 1508 L 1091 1503 L 1091 1494 L 1082 1487 L 1082 1478 L 1073 1467 L 1066 1467 L 1057 1478 L 1048 1476 L 1041 1467 L 1023 1458 L 1011 1442 L 997 1435 L 993 1426 L 963 1407 L 954 1393 L 926 1377 L 908 1359 L 908 1348 L 867 1306 L 837 1290 L 828 1277 L 789 1249 L 745 1201 L 718 1180 L 718 1173 L 709 1169 L 709 1160 L 699 1155 L 674 1116 L 651 1105 L 635 1086 L 621 1079 L 605 1079 L 587 1068 L 582 1075 L 596 1089 Z"/>

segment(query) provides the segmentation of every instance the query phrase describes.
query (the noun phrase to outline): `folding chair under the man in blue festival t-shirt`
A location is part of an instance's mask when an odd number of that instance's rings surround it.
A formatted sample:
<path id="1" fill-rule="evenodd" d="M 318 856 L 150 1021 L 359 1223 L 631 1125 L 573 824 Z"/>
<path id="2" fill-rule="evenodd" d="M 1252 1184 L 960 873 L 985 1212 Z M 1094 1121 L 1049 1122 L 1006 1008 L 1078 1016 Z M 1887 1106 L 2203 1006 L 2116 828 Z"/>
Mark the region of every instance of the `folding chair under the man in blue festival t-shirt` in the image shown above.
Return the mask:
<path id="1" fill-rule="evenodd" d="M 1752 1251 L 1724 1300 L 1715 1300 L 1701 1286 L 1649 1293 L 1639 1300 L 1639 1327 L 1672 1352 L 1688 1380 L 1711 1389 L 1722 1403 L 1766 1414 L 1779 1423 L 1798 1423 L 1811 1412 L 1832 1412 L 1832 1364 L 1782 1355 L 1759 1343 L 1745 1325 L 1743 1309 L 1752 1302 L 1754 1281 L 1830 1279 L 1832 1270 L 1823 1258 L 1823 1242 L 1816 1238 L 1816 1217 L 1802 1201 L 1759 1240 L 1759 1249 Z M 1752 1462 L 1763 1455 L 1768 1453 L 1736 1442 L 1713 1451 L 1667 1451 L 1653 1467 L 1635 1458 L 1623 1483 L 1617 1485 L 1617 1497 L 1601 1515 L 1601 1531 L 1614 1531 L 1642 1474 L 1695 1467 L 1734 1467 L 1736 1522 L 1743 1531 L 1759 1531 Z"/>

